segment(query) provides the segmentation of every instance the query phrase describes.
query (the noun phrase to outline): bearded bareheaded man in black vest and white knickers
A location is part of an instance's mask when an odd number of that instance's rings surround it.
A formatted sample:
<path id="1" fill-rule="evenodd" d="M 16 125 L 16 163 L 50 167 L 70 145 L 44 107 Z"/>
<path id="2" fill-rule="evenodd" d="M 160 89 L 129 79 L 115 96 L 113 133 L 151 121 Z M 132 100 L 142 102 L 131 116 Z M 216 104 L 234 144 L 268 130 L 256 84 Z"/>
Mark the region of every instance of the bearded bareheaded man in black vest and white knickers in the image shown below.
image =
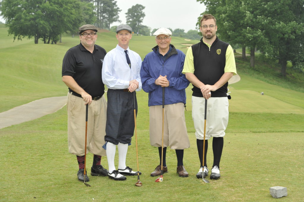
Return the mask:
<path id="1" fill-rule="evenodd" d="M 228 125 L 228 80 L 237 73 L 232 47 L 216 36 L 216 19 L 205 14 L 201 19 L 202 39 L 188 49 L 183 73 L 193 84 L 192 119 L 195 127 L 199 152 L 200 169 L 197 178 L 206 177 L 208 168 L 206 154 L 208 139 L 213 137 L 213 166 L 210 179 L 220 178 L 219 162 L 223 151 L 223 137 Z M 207 102 L 205 159 L 202 162 L 205 121 L 205 100 Z"/>

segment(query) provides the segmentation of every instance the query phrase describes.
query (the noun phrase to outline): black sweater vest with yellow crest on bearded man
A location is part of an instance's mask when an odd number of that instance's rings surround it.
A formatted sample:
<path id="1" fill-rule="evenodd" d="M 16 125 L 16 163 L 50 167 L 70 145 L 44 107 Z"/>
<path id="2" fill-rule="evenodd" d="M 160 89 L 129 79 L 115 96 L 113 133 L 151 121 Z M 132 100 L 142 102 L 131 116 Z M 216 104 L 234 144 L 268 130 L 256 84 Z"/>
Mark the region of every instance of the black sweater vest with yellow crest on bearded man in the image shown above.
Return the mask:
<path id="1" fill-rule="evenodd" d="M 212 43 L 210 49 L 202 41 L 192 45 L 192 54 L 194 61 L 194 75 L 205 85 L 214 85 L 224 74 L 226 64 L 226 50 L 228 43 L 216 40 Z M 214 92 L 211 97 L 227 97 L 228 82 Z M 192 95 L 203 97 L 201 90 L 193 86 Z"/>

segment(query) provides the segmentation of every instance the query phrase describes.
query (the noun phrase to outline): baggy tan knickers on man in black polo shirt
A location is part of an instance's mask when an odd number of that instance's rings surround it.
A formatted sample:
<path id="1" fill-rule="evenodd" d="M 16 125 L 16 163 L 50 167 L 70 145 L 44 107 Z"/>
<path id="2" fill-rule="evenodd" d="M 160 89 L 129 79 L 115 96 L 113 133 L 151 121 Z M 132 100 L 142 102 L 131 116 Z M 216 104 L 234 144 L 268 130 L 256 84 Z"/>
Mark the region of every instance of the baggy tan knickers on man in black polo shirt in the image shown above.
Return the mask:
<path id="1" fill-rule="evenodd" d="M 85 155 L 85 102 L 82 98 L 67 94 L 67 143 L 69 152 Z M 107 102 L 102 96 L 88 107 L 87 152 L 106 156 L 105 144 Z"/>

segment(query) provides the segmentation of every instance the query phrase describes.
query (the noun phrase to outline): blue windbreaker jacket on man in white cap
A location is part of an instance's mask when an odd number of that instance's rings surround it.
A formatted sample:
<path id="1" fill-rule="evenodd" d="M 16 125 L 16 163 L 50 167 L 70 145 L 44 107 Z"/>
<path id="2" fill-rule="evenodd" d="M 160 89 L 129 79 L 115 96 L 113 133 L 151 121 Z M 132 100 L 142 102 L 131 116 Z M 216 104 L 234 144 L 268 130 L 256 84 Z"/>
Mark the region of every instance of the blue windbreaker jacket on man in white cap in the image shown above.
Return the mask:
<path id="1" fill-rule="evenodd" d="M 162 87 L 155 84 L 159 75 L 167 75 L 169 86 L 165 88 L 165 104 L 184 103 L 186 104 L 185 88 L 188 87 L 189 81 L 185 74 L 182 74 L 184 67 L 185 54 L 172 47 L 171 52 L 163 62 L 157 53 L 157 47 L 152 48 L 143 59 L 140 77 L 143 91 L 149 93 L 148 106 L 162 105 Z"/>

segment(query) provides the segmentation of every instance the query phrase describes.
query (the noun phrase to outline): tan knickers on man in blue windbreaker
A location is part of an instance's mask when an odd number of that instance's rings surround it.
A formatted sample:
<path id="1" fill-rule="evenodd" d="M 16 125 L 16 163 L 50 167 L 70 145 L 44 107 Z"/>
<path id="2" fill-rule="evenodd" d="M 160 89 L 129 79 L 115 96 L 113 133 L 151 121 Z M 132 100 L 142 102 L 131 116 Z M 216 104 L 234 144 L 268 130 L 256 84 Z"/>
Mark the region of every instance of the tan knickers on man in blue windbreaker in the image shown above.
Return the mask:
<path id="1" fill-rule="evenodd" d="M 150 106 L 150 144 L 161 147 L 162 105 Z M 164 147 L 186 149 L 190 147 L 183 103 L 164 106 Z"/>

